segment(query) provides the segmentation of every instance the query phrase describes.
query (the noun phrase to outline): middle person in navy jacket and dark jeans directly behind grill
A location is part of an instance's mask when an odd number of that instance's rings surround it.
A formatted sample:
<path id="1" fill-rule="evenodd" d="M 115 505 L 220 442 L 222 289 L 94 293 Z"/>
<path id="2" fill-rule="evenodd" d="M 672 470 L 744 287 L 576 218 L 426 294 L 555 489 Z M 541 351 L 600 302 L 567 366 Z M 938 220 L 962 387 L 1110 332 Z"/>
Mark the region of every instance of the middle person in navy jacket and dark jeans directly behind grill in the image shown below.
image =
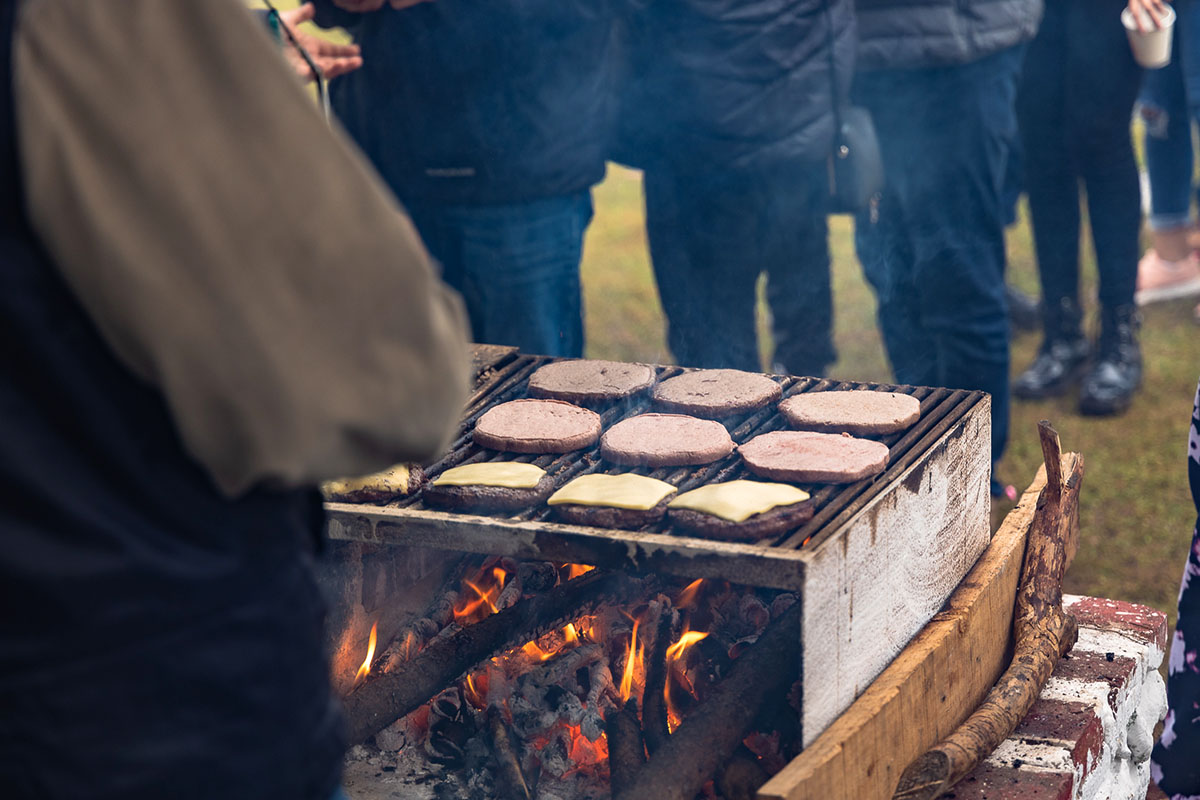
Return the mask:
<path id="1" fill-rule="evenodd" d="M 836 360 L 828 160 L 854 70 L 847 0 L 630 2 L 617 161 L 644 173 L 646 231 L 676 362 L 762 369 Z"/>

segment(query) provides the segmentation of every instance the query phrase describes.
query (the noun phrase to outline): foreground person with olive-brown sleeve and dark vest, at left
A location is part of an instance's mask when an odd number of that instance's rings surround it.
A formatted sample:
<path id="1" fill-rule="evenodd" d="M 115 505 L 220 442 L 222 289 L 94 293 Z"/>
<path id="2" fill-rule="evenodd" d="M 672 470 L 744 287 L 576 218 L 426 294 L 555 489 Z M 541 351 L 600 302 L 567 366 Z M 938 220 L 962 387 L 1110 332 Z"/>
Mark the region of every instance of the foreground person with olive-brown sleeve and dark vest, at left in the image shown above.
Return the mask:
<path id="1" fill-rule="evenodd" d="M 0 4 L 0 795 L 329 800 L 322 480 L 430 458 L 457 296 L 238 0 Z"/>

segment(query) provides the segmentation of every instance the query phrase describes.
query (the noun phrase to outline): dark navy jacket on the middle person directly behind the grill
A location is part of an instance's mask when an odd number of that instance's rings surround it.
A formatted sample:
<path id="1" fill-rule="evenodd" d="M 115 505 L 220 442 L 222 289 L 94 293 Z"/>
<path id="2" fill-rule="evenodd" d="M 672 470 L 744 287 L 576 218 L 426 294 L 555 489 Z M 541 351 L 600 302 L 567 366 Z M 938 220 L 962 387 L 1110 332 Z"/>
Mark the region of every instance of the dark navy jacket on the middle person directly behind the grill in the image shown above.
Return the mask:
<path id="1" fill-rule="evenodd" d="M 644 0 L 626 20 L 620 160 L 708 170 L 828 156 L 834 95 L 853 77 L 848 0 Z"/>

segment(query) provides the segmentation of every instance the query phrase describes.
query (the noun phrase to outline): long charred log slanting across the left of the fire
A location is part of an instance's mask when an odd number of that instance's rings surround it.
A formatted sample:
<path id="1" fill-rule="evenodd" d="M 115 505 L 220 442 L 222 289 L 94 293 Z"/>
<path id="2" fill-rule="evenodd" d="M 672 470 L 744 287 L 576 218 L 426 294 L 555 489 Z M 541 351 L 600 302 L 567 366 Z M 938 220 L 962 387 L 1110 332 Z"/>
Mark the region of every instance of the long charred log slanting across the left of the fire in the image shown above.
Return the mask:
<path id="1" fill-rule="evenodd" d="M 592 572 L 553 590 L 436 638 L 413 661 L 372 674 L 346 698 L 350 744 L 360 744 L 425 703 L 480 661 L 566 625 L 605 600 L 624 600 L 631 579 Z"/>

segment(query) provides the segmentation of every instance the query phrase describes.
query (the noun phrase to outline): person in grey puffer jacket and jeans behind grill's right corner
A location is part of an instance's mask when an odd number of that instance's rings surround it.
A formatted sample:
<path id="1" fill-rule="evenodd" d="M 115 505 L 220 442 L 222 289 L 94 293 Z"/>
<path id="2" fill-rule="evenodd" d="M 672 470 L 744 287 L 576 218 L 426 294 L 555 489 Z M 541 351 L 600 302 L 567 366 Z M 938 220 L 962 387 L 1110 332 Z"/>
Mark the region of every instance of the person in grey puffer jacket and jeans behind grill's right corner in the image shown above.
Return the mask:
<path id="1" fill-rule="evenodd" d="M 1008 443 L 1004 213 L 1021 44 L 1042 0 L 858 0 L 854 98 L 887 178 L 856 225 L 902 384 L 991 395 L 991 459 Z M 992 495 L 1006 488 L 992 477 Z"/>

